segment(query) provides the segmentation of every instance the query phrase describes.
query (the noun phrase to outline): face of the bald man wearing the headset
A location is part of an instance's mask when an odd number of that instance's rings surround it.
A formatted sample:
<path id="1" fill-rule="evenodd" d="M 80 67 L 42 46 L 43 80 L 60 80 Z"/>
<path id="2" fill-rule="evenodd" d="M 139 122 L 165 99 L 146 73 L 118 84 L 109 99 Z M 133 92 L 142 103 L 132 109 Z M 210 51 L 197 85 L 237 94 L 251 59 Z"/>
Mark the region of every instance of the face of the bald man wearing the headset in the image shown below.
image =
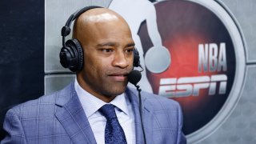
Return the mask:
<path id="1" fill-rule="evenodd" d="M 94 22 L 85 32 L 78 39 L 84 50 L 84 66 L 78 73 L 78 82 L 98 98 L 122 94 L 134 59 L 129 27 L 118 20 Z"/>

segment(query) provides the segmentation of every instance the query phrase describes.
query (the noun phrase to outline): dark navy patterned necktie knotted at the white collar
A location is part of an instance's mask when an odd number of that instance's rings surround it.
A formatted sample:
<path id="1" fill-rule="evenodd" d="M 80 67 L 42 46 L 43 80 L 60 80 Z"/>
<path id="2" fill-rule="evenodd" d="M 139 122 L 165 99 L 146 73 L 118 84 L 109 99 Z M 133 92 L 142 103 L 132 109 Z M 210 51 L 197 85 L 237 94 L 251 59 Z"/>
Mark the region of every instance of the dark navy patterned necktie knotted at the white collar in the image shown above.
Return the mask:
<path id="1" fill-rule="evenodd" d="M 106 144 L 126 144 L 126 135 L 122 130 L 122 126 L 118 122 L 114 106 L 106 104 L 99 110 L 106 118 L 105 143 Z"/>

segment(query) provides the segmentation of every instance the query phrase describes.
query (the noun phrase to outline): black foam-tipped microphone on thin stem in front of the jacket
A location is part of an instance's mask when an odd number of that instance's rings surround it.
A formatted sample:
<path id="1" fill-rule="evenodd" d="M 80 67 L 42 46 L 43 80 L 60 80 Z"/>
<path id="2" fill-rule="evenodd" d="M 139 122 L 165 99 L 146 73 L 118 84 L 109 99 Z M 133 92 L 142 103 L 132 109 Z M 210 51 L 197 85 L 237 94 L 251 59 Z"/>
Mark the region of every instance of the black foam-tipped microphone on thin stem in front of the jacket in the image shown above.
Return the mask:
<path id="1" fill-rule="evenodd" d="M 141 89 L 137 85 L 138 82 L 141 80 L 142 74 L 138 70 L 131 70 L 131 72 L 128 74 L 128 81 L 132 83 L 134 86 L 136 86 L 138 90 L 138 105 L 139 105 L 139 114 L 141 117 L 141 122 L 142 122 L 142 134 L 143 134 L 143 139 L 144 139 L 144 144 L 146 144 L 146 135 L 145 135 L 145 130 L 144 130 L 144 125 L 143 125 L 143 117 L 142 117 L 142 96 L 141 96 Z"/>

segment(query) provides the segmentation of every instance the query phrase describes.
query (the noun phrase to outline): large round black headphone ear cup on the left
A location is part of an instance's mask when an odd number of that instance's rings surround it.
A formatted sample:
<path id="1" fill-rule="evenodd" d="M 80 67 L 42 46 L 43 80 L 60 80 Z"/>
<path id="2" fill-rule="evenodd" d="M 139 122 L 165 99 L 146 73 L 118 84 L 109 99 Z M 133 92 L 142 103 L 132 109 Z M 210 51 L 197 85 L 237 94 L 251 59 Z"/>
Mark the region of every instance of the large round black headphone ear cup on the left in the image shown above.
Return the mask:
<path id="1" fill-rule="evenodd" d="M 78 40 L 70 39 L 66 41 L 59 58 L 63 67 L 69 68 L 73 72 L 82 70 L 83 50 Z"/>

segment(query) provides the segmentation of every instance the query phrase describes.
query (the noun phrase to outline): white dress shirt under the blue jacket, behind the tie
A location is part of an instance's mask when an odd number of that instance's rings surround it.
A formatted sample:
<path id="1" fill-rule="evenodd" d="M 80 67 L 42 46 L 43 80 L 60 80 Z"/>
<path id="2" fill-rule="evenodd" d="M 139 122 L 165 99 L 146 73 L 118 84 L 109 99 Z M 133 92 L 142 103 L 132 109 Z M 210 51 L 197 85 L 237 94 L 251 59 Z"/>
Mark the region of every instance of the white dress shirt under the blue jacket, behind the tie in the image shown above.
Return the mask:
<path id="1" fill-rule="evenodd" d="M 98 109 L 105 105 L 106 102 L 83 90 L 79 86 L 77 79 L 74 81 L 74 89 L 78 94 L 79 101 L 82 103 L 82 108 L 94 132 L 96 142 L 98 144 L 105 143 L 106 118 L 98 112 Z M 135 144 L 134 112 L 126 94 L 118 95 L 110 103 L 115 106 L 115 113 L 126 134 L 127 143 Z"/>

